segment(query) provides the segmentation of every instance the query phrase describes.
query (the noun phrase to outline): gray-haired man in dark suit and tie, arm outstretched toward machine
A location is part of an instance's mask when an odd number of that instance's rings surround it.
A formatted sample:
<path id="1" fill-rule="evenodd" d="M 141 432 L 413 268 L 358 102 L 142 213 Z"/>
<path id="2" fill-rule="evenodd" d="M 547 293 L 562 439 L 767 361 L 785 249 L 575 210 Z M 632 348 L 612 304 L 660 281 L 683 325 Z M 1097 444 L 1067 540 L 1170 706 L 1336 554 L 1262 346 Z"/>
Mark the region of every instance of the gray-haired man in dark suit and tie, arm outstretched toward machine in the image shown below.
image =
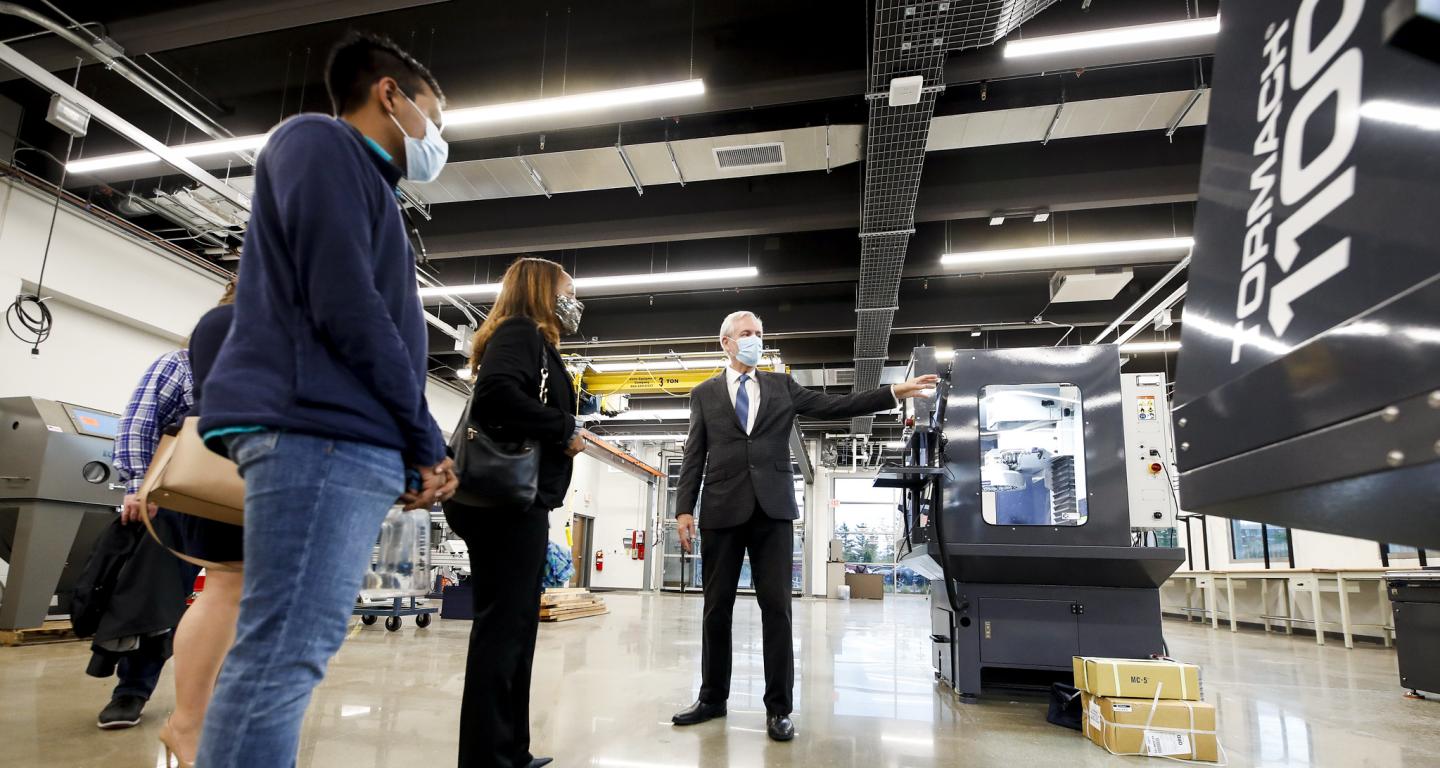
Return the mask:
<path id="1" fill-rule="evenodd" d="M 795 657 L 791 653 L 791 563 L 795 481 L 791 471 L 791 424 L 796 415 L 824 419 L 888 411 L 913 398 L 935 376 L 852 395 L 822 395 L 785 373 L 756 370 L 763 327 L 740 311 L 720 326 L 720 346 L 730 357 L 724 373 L 690 393 L 690 437 L 680 468 L 675 522 L 680 545 L 693 550 L 696 501 L 704 477 L 701 575 L 706 612 L 700 700 L 672 718 L 696 725 L 726 715 L 730 696 L 730 617 L 746 550 L 765 635 L 766 731 L 775 741 L 795 738 L 791 722 Z"/>

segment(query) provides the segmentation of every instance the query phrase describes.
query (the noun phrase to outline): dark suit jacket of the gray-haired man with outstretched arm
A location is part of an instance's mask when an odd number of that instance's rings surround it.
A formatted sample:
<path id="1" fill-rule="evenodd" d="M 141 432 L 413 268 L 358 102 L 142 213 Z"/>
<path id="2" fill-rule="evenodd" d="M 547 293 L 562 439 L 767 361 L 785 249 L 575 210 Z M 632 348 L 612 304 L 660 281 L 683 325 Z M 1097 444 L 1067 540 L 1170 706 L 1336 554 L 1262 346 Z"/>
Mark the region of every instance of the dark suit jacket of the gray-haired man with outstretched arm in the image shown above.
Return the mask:
<path id="1" fill-rule="evenodd" d="M 690 393 L 690 437 L 680 465 L 675 513 L 694 513 L 704 470 L 701 529 L 739 526 L 756 506 L 776 520 L 799 517 L 791 470 L 791 425 L 796 415 L 838 419 L 896 406 L 888 386 L 855 395 L 822 395 L 786 373 L 760 370 L 756 380 L 760 412 L 749 435 L 734 414 L 724 372 Z"/>

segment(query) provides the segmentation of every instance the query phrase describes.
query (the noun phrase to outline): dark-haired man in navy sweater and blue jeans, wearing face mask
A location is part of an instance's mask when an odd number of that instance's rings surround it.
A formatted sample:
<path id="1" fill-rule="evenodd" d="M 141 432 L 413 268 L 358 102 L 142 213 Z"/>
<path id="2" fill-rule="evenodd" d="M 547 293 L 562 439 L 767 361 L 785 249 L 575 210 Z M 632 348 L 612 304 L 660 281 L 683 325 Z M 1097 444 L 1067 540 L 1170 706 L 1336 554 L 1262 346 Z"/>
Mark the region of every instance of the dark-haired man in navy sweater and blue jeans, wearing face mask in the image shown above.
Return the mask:
<path id="1" fill-rule="evenodd" d="M 291 118 L 261 150 L 245 280 L 203 388 L 200 432 L 245 477 L 243 595 L 206 768 L 295 765 L 386 512 L 455 491 L 396 199 L 402 177 L 432 182 L 445 164 L 444 95 L 364 35 L 331 50 L 325 86 L 337 118 Z"/>

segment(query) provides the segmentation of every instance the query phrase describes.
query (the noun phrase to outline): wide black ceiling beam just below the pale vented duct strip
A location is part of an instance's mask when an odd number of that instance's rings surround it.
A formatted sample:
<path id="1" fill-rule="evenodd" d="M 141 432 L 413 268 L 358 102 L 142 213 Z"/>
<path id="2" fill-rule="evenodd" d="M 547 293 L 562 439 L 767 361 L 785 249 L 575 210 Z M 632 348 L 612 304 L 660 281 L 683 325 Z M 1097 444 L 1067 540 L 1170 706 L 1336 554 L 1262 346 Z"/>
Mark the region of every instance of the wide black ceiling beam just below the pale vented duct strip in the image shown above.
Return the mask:
<path id="1" fill-rule="evenodd" d="M 1158 134 L 1156 134 L 1158 135 Z M 942 153 L 926 166 L 916 220 L 1188 202 L 1197 196 L 1202 140 L 1135 135 Z M 432 259 L 736 238 L 858 225 L 855 167 L 680 187 L 582 192 L 449 203 L 423 229 Z"/>

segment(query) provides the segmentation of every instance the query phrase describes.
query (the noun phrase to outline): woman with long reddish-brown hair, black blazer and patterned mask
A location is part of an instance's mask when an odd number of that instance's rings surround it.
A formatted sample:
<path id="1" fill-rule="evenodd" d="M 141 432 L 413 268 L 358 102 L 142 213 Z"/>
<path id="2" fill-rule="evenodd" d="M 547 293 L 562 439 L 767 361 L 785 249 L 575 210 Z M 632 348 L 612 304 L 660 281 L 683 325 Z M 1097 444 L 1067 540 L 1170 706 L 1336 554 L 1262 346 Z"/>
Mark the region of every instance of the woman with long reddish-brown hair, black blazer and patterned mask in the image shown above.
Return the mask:
<path id="1" fill-rule="evenodd" d="M 550 762 L 530 754 L 530 667 L 550 510 L 564 503 L 573 458 L 583 450 L 575 389 L 557 349 L 562 333 L 579 327 L 583 308 L 559 264 L 523 258 L 505 271 L 495 305 L 475 333 L 471 416 L 497 441 L 537 441 L 540 477 L 530 509 L 445 503 L 445 519 L 469 546 L 475 598 L 461 703 L 462 768 Z"/>

